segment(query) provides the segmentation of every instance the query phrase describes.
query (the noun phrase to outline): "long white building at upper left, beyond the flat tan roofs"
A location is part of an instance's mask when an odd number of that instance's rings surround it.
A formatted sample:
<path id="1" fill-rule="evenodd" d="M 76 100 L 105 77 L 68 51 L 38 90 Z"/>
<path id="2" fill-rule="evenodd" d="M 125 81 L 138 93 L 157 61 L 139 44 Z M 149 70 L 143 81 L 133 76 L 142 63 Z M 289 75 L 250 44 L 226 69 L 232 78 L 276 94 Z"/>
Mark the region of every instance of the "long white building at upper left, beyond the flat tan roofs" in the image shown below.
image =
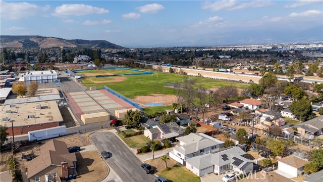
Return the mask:
<path id="1" fill-rule="evenodd" d="M 55 70 L 44 71 L 28 71 L 21 75 L 18 81 L 30 83 L 37 81 L 38 83 L 55 82 L 58 79 L 58 74 Z"/>

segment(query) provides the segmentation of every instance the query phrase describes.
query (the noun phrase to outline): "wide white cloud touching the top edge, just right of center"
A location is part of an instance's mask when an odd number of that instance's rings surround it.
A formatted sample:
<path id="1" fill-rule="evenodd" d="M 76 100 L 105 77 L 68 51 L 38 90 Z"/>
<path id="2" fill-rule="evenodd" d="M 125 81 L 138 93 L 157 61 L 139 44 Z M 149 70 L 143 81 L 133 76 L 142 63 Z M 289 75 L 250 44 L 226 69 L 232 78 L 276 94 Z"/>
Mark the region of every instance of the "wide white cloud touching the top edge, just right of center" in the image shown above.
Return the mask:
<path id="1" fill-rule="evenodd" d="M 202 3 L 202 9 L 210 9 L 213 12 L 226 10 L 238 10 L 245 8 L 259 8 L 273 5 L 270 1 L 216 1 Z"/>

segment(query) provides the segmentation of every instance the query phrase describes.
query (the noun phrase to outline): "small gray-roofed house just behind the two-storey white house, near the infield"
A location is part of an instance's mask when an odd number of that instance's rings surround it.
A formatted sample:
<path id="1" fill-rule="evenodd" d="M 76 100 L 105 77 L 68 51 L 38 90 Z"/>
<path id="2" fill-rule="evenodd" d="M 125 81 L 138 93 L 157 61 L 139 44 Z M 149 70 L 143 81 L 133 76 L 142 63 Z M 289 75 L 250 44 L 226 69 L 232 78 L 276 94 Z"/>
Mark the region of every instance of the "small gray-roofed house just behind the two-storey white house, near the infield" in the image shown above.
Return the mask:
<path id="1" fill-rule="evenodd" d="M 152 128 L 144 130 L 144 135 L 151 140 L 154 139 L 173 139 L 177 136 L 184 135 L 184 128 L 181 128 L 177 123 L 170 122 L 160 125 L 155 125 Z"/>

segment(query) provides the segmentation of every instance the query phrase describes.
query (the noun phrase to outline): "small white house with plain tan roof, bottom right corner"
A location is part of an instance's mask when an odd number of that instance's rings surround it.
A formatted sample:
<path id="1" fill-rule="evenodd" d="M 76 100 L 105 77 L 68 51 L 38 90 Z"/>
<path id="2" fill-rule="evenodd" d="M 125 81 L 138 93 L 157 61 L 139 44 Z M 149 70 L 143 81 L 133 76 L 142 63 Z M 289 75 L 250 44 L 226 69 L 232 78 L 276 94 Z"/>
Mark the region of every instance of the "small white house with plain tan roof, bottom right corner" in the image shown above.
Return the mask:
<path id="1" fill-rule="evenodd" d="M 289 155 L 278 160 L 278 169 L 275 172 L 287 178 L 297 177 L 304 174 L 304 165 L 308 163 L 304 159 Z"/>

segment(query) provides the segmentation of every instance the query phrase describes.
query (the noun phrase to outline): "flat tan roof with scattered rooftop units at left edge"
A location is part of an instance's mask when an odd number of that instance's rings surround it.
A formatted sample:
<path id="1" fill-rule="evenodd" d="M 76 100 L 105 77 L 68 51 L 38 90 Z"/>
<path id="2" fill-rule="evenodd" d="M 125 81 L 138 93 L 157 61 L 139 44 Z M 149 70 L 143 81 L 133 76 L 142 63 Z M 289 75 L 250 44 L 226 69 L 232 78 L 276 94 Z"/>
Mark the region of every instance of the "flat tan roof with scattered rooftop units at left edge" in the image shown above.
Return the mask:
<path id="1" fill-rule="evenodd" d="M 41 109 L 36 109 L 36 104 L 40 104 Z M 10 121 L 13 121 L 15 127 L 63 121 L 58 104 L 55 101 L 10 106 L 0 106 L 1 125 L 11 126 Z M 9 121 L 5 118 L 8 118 Z"/>

